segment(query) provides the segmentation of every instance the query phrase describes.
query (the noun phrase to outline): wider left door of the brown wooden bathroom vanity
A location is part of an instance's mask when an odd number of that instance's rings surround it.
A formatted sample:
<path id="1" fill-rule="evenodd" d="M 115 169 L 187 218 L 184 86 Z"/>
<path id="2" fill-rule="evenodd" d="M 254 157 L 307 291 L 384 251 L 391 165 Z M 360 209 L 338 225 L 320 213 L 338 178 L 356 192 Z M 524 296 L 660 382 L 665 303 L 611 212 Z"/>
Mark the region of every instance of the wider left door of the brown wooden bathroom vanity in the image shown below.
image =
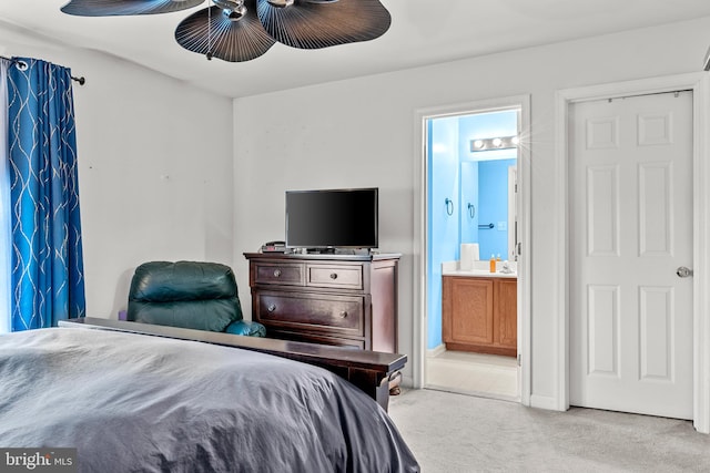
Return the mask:
<path id="1" fill-rule="evenodd" d="M 494 284 L 491 279 L 444 277 L 444 342 L 452 349 L 459 345 L 494 342 Z"/>

